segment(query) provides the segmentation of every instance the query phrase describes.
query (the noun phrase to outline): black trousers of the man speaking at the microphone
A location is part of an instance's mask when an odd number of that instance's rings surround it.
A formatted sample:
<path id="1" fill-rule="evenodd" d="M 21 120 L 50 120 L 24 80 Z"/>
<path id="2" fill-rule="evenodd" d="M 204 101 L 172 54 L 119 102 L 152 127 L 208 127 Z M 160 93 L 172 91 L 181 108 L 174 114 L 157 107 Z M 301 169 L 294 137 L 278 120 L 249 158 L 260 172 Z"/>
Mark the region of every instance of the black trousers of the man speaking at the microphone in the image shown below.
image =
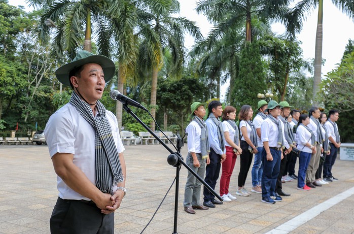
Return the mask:
<path id="1" fill-rule="evenodd" d="M 52 234 L 114 234 L 114 213 L 105 215 L 91 201 L 58 197 L 50 217 Z"/>

